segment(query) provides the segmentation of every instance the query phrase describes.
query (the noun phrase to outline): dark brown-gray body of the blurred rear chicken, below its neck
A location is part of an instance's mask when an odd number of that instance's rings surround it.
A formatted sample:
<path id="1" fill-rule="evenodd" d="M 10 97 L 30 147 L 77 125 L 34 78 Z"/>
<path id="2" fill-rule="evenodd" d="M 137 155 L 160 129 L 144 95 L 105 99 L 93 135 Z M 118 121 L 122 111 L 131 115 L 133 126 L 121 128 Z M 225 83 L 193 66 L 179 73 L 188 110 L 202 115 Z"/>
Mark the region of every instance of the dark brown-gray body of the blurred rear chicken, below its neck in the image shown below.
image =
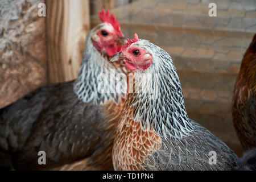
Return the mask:
<path id="1" fill-rule="evenodd" d="M 0 110 L 1 149 L 11 153 L 15 169 L 52 168 L 108 150 L 113 133 L 104 108 L 79 100 L 73 84 L 44 86 Z M 38 164 L 39 151 L 46 165 Z"/>

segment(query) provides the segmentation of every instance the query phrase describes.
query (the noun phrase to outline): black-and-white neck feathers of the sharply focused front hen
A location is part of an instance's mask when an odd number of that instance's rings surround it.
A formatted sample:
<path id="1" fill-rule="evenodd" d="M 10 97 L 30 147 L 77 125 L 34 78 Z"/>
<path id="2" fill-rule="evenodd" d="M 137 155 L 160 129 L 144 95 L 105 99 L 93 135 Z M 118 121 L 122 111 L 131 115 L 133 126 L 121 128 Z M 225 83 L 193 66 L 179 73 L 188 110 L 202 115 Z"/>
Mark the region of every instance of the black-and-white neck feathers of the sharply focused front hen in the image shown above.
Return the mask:
<path id="1" fill-rule="evenodd" d="M 126 101 L 127 107 L 134 107 L 134 120 L 140 121 L 143 128 L 153 126 L 156 133 L 165 137 L 181 138 L 187 135 L 192 126 L 184 107 L 179 77 L 171 57 L 166 51 L 148 41 L 133 44 L 154 50 L 150 52 L 153 59 L 156 59 L 154 55 L 157 53 L 159 58 L 165 61 L 163 64 L 153 62 L 150 68 L 143 70 L 143 74 L 135 71 L 133 97 Z M 167 97 L 168 95 L 170 97 Z M 148 109 L 151 111 L 146 112 Z"/>

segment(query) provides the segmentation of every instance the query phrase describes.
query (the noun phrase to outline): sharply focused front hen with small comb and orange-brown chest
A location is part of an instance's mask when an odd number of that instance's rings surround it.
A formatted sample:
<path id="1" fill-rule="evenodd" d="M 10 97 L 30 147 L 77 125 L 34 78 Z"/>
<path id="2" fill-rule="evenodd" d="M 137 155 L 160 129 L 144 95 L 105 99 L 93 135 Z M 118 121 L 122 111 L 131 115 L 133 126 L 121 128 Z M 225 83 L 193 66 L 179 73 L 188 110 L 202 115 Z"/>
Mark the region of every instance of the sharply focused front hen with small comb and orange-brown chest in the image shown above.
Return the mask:
<path id="1" fill-rule="evenodd" d="M 171 56 L 147 40 L 128 40 L 112 61 L 125 60 L 134 71 L 117 126 L 112 158 L 115 170 L 230 170 L 243 160 L 210 131 L 188 118 Z M 250 155 L 250 156 L 249 156 Z"/>

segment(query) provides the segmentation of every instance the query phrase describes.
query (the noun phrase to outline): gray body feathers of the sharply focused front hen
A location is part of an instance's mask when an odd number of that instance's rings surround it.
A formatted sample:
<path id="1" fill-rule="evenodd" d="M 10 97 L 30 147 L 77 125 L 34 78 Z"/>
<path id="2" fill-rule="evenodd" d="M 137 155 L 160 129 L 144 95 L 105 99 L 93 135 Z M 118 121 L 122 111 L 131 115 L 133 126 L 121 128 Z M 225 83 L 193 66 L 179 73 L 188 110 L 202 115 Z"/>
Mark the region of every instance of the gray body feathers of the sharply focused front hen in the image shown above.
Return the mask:
<path id="1" fill-rule="evenodd" d="M 192 121 L 193 122 L 193 121 Z M 203 126 L 195 126 L 189 137 L 162 140 L 162 147 L 144 160 L 147 170 L 231 170 L 239 166 L 238 157 L 225 143 Z M 211 163 L 210 151 L 216 152 L 217 163 Z"/>

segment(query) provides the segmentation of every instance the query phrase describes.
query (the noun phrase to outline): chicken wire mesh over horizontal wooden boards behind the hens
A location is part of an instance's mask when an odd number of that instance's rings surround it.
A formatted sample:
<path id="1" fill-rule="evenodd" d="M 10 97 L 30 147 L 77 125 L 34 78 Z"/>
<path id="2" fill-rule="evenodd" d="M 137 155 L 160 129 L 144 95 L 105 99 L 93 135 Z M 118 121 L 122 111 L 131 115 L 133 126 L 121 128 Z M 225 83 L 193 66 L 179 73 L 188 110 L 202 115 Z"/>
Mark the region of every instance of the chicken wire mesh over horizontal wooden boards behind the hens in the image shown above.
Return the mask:
<path id="1" fill-rule="evenodd" d="M 216 17 L 208 14 L 212 2 Z M 241 154 L 232 123 L 232 93 L 256 32 L 256 1 L 90 1 L 92 27 L 100 22 L 101 7 L 115 14 L 125 36 L 137 32 L 172 56 L 189 118 Z"/>

